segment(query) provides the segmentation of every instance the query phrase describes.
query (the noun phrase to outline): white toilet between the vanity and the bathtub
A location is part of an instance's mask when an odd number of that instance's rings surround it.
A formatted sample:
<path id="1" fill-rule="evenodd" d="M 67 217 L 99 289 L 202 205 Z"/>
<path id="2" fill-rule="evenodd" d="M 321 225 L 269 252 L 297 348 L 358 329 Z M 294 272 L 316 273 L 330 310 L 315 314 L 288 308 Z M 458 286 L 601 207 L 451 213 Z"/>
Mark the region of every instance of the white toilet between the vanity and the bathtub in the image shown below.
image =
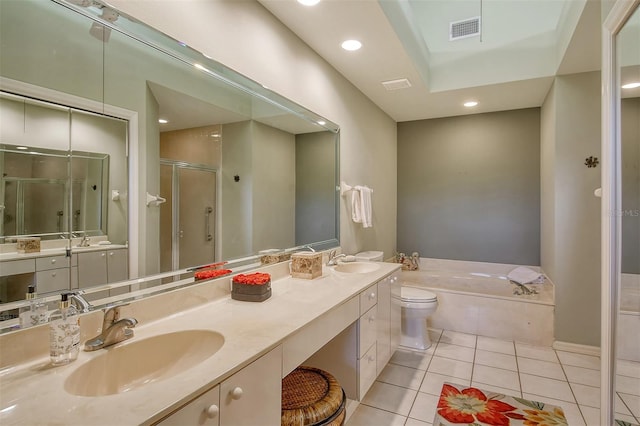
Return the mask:
<path id="1" fill-rule="evenodd" d="M 422 288 L 402 286 L 400 298 L 394 296 L 394 299 L 402 307 L 400 346 L 414 350 L 429 349 L 431 339 L 427 330 L 427 317 L 438 307 L 435 293 Z"/>

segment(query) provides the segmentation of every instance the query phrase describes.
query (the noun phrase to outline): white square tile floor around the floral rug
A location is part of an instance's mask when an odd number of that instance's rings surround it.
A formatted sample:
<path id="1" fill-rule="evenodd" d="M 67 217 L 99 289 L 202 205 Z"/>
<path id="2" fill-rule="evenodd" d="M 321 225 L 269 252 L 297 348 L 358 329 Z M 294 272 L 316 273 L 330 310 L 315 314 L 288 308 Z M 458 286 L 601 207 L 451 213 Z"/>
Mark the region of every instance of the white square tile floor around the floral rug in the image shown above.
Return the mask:
<path id="1" fill-rule="evenodd" d="M 600 426 L 600 359 L 453 331 L 431 330 L 424 353 L 399 349 L 347 426 L 430 425 L 443 382 L 547 402 L 571 426 Z M 618 367 L 616 418 L 640 424 L 640 363 Z"/>

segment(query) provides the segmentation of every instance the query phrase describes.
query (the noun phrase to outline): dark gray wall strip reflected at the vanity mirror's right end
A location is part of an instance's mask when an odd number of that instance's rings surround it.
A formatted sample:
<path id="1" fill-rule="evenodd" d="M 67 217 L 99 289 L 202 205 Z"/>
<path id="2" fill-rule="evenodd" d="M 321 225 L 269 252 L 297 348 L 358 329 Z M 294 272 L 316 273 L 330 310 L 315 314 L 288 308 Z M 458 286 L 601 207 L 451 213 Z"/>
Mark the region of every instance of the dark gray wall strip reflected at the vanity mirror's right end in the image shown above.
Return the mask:
<path id="1" fill-rule="evenodd" d="M 335 135 L 296 135 L 296 245 L 336 235 Z"/>

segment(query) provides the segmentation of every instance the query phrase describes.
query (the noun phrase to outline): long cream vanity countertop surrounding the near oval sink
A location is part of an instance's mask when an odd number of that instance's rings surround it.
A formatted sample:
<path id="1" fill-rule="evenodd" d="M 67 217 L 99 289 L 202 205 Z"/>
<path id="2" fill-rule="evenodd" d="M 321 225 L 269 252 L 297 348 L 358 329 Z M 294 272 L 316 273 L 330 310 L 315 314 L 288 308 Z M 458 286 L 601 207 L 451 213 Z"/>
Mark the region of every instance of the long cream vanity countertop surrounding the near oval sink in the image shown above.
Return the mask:
<path id="1" fill-rule="evenodd" d="M 129 392 L 83 397 L 65 391 L 66 378 L 104 350 L 81 351 L 75 362 L 61 367 L 51 367 L 47 357 L 7 368 L 0 373 L 0 423 L 124 425 L 157 421 L 400 268 L 393 263 L 379 265 L 376 271 L 360 274 L 339 273 L 325 266 L 322 277 L 314 280 L 276 279 L 272 282 L 271 298 L 264 302 L 241 302 L 226 295 L 166 318 L 141 321 L 135 328 L 135 337 L 121 345 L 193 329 L 217 331 L 225 342 L 202 363 Z M 175 292 L 187 297 L 189 291 L 191 288 Z"/>

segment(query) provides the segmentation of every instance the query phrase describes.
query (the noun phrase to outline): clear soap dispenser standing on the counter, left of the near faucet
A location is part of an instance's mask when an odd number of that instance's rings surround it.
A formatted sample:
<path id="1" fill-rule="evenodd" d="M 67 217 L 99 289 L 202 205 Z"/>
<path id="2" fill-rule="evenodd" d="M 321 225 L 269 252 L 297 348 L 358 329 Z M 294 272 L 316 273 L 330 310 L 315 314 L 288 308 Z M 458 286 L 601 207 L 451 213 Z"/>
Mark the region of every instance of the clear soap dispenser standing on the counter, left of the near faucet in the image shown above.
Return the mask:
<path id="1" fill-rule="evenodd" d="M 80 351 L 78 310 L 69 303 L 68 293 L 60 296 L 60 308 L 49 317 L 49 349 L 53 365 L 75 361 Z"/>

